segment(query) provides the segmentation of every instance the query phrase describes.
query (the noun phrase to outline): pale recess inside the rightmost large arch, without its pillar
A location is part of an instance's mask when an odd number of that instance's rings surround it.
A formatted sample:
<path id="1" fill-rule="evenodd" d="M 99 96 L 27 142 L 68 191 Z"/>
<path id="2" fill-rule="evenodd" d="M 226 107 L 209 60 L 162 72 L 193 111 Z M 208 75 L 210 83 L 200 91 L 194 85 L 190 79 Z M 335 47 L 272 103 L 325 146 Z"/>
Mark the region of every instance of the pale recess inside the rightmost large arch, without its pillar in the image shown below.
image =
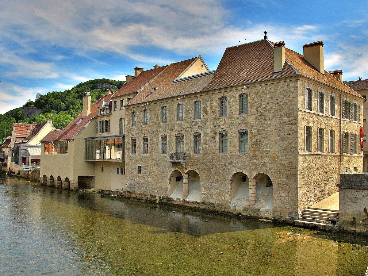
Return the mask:
<path id="1" fill-rule="evenodd" d="M 256 181 L 256 200 L 253 208 L 272 210 L 273 184 L 271 178 L 265 173 L 259 173 L 254 176 Z"/>

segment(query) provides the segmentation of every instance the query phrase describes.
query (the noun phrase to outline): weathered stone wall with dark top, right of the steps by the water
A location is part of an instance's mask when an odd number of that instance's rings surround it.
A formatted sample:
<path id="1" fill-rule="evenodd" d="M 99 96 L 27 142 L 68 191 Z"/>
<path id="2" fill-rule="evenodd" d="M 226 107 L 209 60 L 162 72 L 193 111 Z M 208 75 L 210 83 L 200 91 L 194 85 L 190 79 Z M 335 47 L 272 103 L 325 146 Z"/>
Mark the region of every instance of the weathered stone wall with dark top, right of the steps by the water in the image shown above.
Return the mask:
<path id="1" fill-rule="evenodd" d="M 368 234 L 368 175 L 341 174 L 339 190 L 340 230 Z"/>

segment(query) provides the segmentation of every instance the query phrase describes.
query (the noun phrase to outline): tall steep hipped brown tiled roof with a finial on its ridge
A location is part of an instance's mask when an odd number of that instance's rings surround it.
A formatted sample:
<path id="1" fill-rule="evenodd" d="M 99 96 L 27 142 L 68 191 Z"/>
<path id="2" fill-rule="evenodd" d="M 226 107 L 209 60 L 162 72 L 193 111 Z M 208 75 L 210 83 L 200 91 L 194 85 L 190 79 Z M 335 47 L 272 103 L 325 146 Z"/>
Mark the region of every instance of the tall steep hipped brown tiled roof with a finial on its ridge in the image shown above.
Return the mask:
<path id="1" fill-rule="evenodd" d="M 321 74 L 297 52 L 285 48 L 285 60 L 286 62 L 281 73 L 273 74 L 272 42 L 263 39 L 229 47 L 225 50 L 212 81 L 203 90 L 302 74 L 353 95 L 360 96 L 329 72 L 325 71 L 325 75 Z"/>

